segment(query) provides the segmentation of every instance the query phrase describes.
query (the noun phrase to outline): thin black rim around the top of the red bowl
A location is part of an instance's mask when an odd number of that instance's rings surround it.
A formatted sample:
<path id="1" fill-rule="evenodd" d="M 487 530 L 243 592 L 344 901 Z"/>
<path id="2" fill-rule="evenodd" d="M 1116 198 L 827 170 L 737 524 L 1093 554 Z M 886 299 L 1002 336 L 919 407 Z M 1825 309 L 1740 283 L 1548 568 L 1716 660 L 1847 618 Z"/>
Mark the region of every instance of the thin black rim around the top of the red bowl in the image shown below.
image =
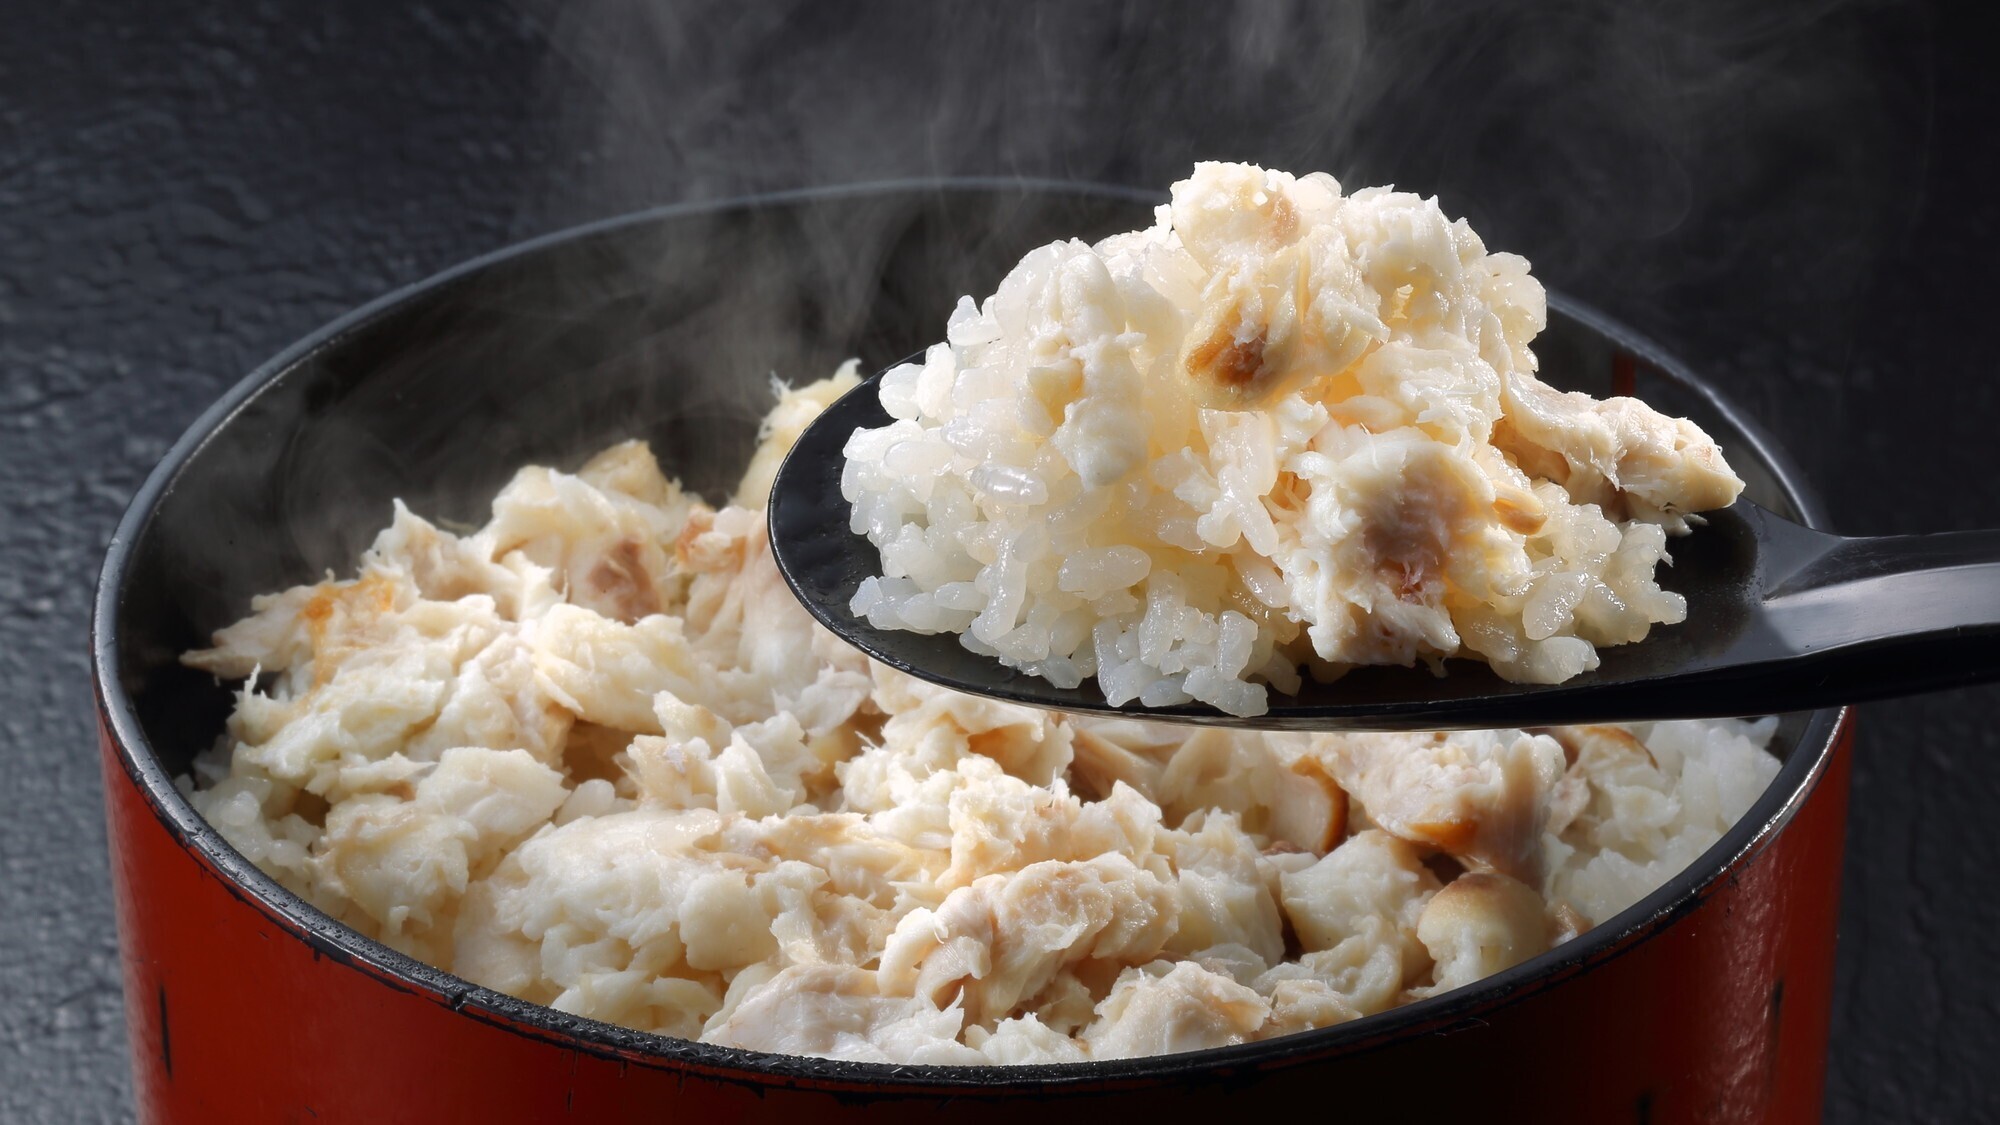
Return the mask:
<path id="1" fill-rule="evenodd" d="M 1058 1085 L 1110 1083 L 1130 1087 L 1134 1083 L 1186 1081 L 1190 1075 L 1200 1073 L 1218 1075 L 1246 1067 L 1266 1069 L 1274 1065 L 1304 1063 L 1334 1053 L 1366 1051 L 1412 1033 L 1432 1033 L 1478 1019 L 1480 1013 L 1510 1007 L 1518 999 L 1540 993 L 1542 989 L 1552 987 L 1576 973 L 1594 969 L 1654 937 L 1668 923 L 1706 901 L 1726 881 L 1730 871 L 1768 843 L 1792 819 L 1800 805 L 1804 805 L 1806 797 L 1824 773 L 1844 729 L 1850 725 L 1852 709 L 1812 713 L 1800 733 L 1798 747 L 1784 761 L 1778 777 L 1772 779 L 1764 795 L 1758 797 L 1756 805 L 1752 805 L 1752 809 L 1694 863 L 1604 925 L 1598 925 L 1586 935 L 1542 953 L 1540 957 L 1524 961 L 1522 965 L 1440 997 L 1280 1039 L 1242 1043 L 1234 1047 L 1212 1047 L 1184 1055 L 1002 1067 L 850 1063 L 744 1051 L 738 1047 L 672 1039 L 596 1019 L 574 1017 L 506 993 L 496 993 L 406 957 L 320 913 L 316 907 L 280 887 L 254 863 L 236 853 L 236 849 L 232 849 L 220 833 L 202 821 L 202 817 L 196 815 L 188 801 L 180 795 L 172 775 L 166 773 L 158 755 L 152 751 L 152 745 L 146 741 L 132 709 L 132 701 L 118 677 L 120 595 L 132 577 L 130 562 L 134 544 L 150 526 L 160 500 L 172 492 L 180 470 L 196 452 L 200 452 L 210 436 L 226 426 L 236 412 L 270 382 L 278 380 L 308 356 L 336 346 L 356 328 L 408 300 L 430 296 L 494 264 L 524 258 L 558 244 L 616 234 L 626 228 L 650 226 L 674 218 L 728 210 L 798 206 L 896 192 L 976 194 L 998 190 L 1120 198 L 1138 204 L 1164 202 L 1160 192 L 1144 188 L 990 176 L 876 180 L 726 200 L 668 204 L 556 230 L 456 264 L 362 304 L 260 364 L 236 382 L 236 386 L 224 392 L 222 398 L 218 398 L 208 410 L 204 410 L 172 444 L 166 456 L 162 456 L 160 464 L 146 476 L 120 518 L 110 544 L 106 546 L 104 567 L 98 575 L 90 621 L 90 657 L 92 679 L 96 681 L 98 713 L 104 729 L 112 735 L 124 773 L 146 797 L 154 817 L 160 819 L 174 839 L 194 851 L 200 861 L 208 863 L 224 879 L 232 895 L 256 907 L 278 925 L 298 933 L 306 943 L 332 961 L 360 969 L 386 987 L 430 995 L 436 1003 L 462 1011 L 466 1017 L 492 1023 L 520 1035 L 546 1039 L 566 1049 L 618 1059 L 622 1063 L 702 1071 L 714 1079 L 750 1087 L 796 1083 L 812 1087 L 842 1087 L 854 1093 L 950 1093 L 952 1089 L 966 1087 L 986 1091 L 1016 1089 L 1032 1093 Z M 1818 498 L 1802 486 L 1796 468 L 1782 454 L 1782 448 L 1762 426 L 1758 426 L 1752 418 L 1746 418 L 1708 382 L 1694 376 L 1680 360 L 1628 326 L 1554 292 L 1548 302 L 1550 308 L 1584 320 L 1592 328 L 1618 338 L 1624 346 L 1638 352 L 1640 358 L 1664 370 L 1686 388 L 1692 388 L 1696 394 L 1706 398 L 1712 408 L 1726 414 L 1738 428 L 1742 428 L 1748 444 L 1754 446 L 1756 456 L 1760 456 L 1770 468 L 1778 486 L 1798 504 L 1804 522 L 1808 526 L 1824 526 L 1826 516 Z M 106 779 L 106 783 L 112 783 L 112 779 Z"/>

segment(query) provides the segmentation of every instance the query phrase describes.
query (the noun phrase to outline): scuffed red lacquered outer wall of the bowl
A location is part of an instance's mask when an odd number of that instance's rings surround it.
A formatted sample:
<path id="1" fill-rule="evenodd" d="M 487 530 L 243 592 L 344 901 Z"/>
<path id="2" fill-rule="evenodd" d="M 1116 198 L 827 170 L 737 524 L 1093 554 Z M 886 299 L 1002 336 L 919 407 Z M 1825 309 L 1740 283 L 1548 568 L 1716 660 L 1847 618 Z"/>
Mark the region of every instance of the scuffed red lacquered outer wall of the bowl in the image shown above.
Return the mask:
<path id="1" fill-rule="evenodd" d="M 1792 815 L 1646 933 L 1414 1033 L 1062 1085 L 854 1085 L 674 1063 L 510 1023 L 234 887 L 104 727 L 134 1091 L 146 1121 L 1818 1121 L 1852 713 Z M 1812 755 L 1818 747 L 1800 747 Z M 144 751 L 140 751 L 144 753 Z M 1360 1117 L 1366 1119 L 1366 1117 Z"/>

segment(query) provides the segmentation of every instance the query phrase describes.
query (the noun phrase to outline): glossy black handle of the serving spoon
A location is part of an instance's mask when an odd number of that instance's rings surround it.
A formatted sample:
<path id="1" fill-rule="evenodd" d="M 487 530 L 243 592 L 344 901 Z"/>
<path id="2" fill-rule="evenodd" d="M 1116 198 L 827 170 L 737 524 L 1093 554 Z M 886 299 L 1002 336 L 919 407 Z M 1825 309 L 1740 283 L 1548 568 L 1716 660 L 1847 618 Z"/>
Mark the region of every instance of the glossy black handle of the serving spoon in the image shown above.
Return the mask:
<path id="1" fill-rule="evenodd" d="M 1824 536 L 1764 575 L 1744 643 L 1782 659 L 1786 703 L 1852 703 L 2000 679 L 2000 530 Z"/>

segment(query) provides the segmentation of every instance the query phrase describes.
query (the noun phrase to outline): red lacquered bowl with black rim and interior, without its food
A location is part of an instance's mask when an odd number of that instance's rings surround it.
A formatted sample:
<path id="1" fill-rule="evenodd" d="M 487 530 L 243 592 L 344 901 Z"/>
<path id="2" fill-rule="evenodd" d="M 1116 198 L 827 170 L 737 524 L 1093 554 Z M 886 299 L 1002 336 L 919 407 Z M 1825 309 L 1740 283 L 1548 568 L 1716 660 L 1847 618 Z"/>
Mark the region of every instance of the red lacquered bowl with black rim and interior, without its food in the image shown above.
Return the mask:
<path id="1" fill-rule="evenodd" d="M 316 332 L 208 410 L 126 512 L 92 631 L 134 1089 L 152 1121 L 1334 1117 L 1816 1121 L 1848 799 L 1846 711 L 1790 715 L 1750 815 L 1630 911 L 1474 987 L 1242 1047 L 1060 1067 L 888 1067 L 664 1039 L 474 987 L 348 931 L 174 789 L 228 713 L 176 655 L 248 599 L 346 571 L 390 498 L 476 520 L 514 466 L 642 436 L 724 494 L 770 374 L 884 362 L 1024 250 L 1150 196 L 884 184 L 668 208 L 542 238 Z M 1552 300 L 1544 374 L 1722 440 L 1818 520 L 1754 424 L 1632 332 Z"/>

